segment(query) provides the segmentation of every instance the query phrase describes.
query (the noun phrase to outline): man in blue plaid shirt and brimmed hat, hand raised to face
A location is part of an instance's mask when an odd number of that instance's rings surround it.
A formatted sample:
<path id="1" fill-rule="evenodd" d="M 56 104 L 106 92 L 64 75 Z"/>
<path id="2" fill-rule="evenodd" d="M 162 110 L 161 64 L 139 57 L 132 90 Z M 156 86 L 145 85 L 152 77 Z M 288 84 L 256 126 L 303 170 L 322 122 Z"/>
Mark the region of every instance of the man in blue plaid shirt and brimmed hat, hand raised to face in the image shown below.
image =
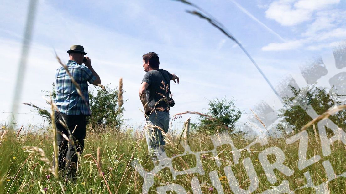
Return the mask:
<path id="1" fill-rule="evenodd" d="M 72 45 L 67 51 L 70 60 L 66 66 L 72 77 L 81 88 L 81 92 L 86 101 L 78 94 L 76 87 L 72 83 L 71 77 L 64 67 L 56 70 L 56 91 L 55 104 L 59 112 L 55 111 L 55 124 L 58 142 L 58 167 L 59 171 L 65 169 L 67 178 L 75 178 L 78 156 L 84 147 L 86 135 L 86 116 L 90 116 L 88 82 L 97 86 L 101 84 L 100 77 L 91 66 L 89 57 L 85 57 L 86 52 L 80 45 Z M 84 60 L 83 60 L 84 59 Z M 84 65 L 82 65 L 84 63 Z M 61 124 L 63 122 L 66 126 Z M 63 137 L 69 137 L 68 141 Z M 55 164 L 54 164 L 55 165 Z"/>

